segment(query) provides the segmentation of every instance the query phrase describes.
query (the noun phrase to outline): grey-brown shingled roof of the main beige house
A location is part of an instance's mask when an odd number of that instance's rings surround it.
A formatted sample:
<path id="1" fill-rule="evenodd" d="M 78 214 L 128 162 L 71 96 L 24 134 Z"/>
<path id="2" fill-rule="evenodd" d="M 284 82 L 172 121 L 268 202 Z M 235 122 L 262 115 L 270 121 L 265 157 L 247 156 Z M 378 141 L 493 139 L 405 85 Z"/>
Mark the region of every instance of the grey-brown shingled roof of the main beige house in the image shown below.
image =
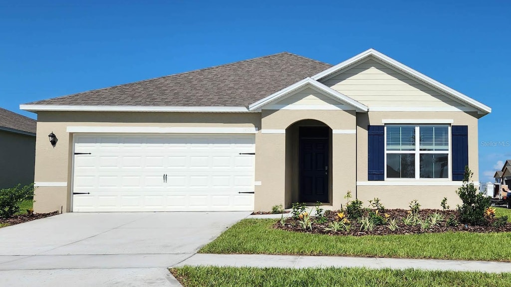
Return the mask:
<path id="1" fill-rule="evenodd" d="M 331 66 L 283 52 L 29 105 L 248 106 Z"/>

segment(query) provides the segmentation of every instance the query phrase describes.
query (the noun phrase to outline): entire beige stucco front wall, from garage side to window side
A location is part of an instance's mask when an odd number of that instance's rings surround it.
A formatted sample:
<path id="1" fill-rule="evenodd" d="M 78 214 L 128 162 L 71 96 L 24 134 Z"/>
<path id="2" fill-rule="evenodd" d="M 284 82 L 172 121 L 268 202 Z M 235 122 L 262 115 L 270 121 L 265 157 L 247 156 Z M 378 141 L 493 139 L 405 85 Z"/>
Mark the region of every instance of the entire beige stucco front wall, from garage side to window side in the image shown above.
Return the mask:
<path id="1" fill-rule="evenodd" d="M 285 132 L 293 123 L 304 119 L 320 121 L 332 130 L 330 182 L 333 208 L 344 204 L 343 196 L 351 190 L 364 201 L 378 197 L 388 208 L 405 208 L 417 199 L 423 208 L 438 208 L 443 197 L 451 207 L 458 202 L 457 186 L 382 185 L 367 186 L 367 126 L 383 125 L 382 119 L 452 119 L 453 125 L 469 126 L 469 166 L 478 174 L 477 115 L 468 112 L 371 112 L 344 110 L 263 110 L 261 113 L 164 113 L 164 112 L 40 112 L 38 114 L 35 181 L 64 183 L 65 186 L 40 186 L 36 189 L 34 210 L 50 212 L 71 210 L 73 135 L 68 126 L 119 127 L 256 127 L 255 134 L 255 211 L 271 210 L 273 205 L 289 207 L 297 199 L 297 184 L 289 176 L 296 165 L 292 142 L 296 136 Z M 280 130 L 265 133 L 265 130 Z M 354 133 L 335 131 L 356 130 Z M 284 132 L 282 132 L 284 131 Z M 48 134 L 54 132 L 58 142 L 50 145 Z M 296 134 L 295 134 L 296 135 Z"/>

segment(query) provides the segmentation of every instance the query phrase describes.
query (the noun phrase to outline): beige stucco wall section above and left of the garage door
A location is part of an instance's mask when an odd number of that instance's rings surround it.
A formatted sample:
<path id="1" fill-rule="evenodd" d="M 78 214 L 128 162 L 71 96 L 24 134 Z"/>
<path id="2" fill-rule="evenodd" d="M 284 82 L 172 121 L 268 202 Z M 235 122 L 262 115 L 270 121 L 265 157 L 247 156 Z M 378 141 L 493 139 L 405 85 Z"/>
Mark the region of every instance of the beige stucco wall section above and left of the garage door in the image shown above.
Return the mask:
<path id="1" fill-rule="evenodd" d="M 68 126 L 87 127 L 261 127 L 260 113 L 167 113 L 167 112 L 39 112 L 37 122 L 35 181 L 64 183 L 39 186 L 34 211 L 71 210 L 73 136 Z M 57 136 L 52 147 L 48 134 Z M 48 184 L 47 184 L 48 185 Z"/>

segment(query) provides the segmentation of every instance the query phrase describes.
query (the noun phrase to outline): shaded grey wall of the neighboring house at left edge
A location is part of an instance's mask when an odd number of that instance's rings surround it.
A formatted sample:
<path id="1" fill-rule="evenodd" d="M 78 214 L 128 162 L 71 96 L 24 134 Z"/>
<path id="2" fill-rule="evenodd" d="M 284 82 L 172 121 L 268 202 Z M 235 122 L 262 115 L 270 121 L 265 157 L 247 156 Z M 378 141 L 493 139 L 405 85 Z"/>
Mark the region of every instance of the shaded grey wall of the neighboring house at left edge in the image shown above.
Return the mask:
<path id="1" fill-rule="evenodd" d="M 34 182 L 35 136 L 0 131 L 0 188 Z"/>

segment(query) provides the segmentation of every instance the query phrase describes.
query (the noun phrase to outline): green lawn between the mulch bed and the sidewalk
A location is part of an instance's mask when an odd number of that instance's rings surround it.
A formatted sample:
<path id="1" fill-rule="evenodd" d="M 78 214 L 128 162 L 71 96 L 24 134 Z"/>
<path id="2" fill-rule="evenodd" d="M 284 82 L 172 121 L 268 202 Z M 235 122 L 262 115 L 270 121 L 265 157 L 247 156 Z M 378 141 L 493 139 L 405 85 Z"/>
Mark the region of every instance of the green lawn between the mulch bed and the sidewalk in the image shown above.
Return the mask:
<path id="1" fill-rule="evenodd" d="M 245 219 L 199 253 L 339 255 L 511 261 L 511 233 L 446 232 L 342 236 L 273 229 L 275 219 Z"/>

